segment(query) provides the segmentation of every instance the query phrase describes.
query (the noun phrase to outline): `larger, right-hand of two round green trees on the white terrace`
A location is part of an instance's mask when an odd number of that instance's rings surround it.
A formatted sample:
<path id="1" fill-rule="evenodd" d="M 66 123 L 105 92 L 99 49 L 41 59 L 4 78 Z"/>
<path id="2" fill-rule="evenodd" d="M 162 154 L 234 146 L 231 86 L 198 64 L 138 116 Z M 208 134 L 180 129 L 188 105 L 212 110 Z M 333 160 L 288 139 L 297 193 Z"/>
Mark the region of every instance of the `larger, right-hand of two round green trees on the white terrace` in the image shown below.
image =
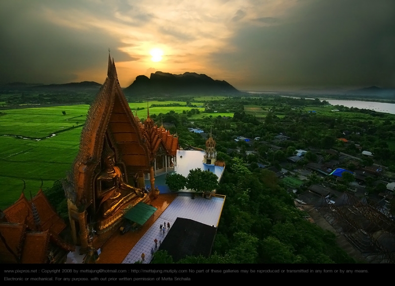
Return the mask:
<path id="1" fill-rule="evenodd" d="M 218 187 L 217 175 L 210 171 L 202 171 L 200 168 L 190 170 L 187 180 L 187 188 L 197 192 L 211 192 Z"/>

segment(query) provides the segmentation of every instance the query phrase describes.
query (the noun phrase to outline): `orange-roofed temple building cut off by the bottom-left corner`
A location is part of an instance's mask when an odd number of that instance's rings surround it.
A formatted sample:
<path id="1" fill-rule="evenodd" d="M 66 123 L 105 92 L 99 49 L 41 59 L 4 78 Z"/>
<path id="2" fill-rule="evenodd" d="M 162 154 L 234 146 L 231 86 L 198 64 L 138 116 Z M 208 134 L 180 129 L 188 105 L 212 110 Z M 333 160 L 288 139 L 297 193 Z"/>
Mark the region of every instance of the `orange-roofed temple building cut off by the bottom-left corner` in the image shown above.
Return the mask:
<path id="1" fill-rule="evenodd" d="M 40 190 L 20 198 L 0 216 L 0 263 L 65 263 L 75 250 L 62 231 L 65 222 Z"/>

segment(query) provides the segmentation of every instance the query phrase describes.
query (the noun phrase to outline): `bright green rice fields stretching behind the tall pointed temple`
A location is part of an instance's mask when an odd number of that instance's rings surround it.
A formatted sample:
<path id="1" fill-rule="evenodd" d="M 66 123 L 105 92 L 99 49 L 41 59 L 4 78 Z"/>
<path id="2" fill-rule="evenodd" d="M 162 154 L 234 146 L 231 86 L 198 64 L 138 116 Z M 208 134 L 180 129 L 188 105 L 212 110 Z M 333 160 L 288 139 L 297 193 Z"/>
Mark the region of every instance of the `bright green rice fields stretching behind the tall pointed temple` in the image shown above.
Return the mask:
<path id="1" fill-rule="evenodd" d="M 150 101 L 149 104 L 169 104 L 181 101 Z M 139 118 L 147 117 L 147 102 L 130 103 Z M 0 209 L 14 203 L 26 182 L 25 194 L 35 195 L 43 181 L 43 189 L 66 177 L 79 150 L 79 138 L 89 105 L 67 105 L 1 110 L 0 116 Z M 150 114 L 174 110 L 182 113 L 194 107 L 150 107 Z M 204 108 L 198 108 L 204 111 Z M 62 111 L 66 114 L 63 115 Z M 133 112 L 134 113 L 134 112 Z M 232 113 L 200 113 L 213 117 L 233 116 Z M 53 134 L 55 134 L 53 136 Z"/>

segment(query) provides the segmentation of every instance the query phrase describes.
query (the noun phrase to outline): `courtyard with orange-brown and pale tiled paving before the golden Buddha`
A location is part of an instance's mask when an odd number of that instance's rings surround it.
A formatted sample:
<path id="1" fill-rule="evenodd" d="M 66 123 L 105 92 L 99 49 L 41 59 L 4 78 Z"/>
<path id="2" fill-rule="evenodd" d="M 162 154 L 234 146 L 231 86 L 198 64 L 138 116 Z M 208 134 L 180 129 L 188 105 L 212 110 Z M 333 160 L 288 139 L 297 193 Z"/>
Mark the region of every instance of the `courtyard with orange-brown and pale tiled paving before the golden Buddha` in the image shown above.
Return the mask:
<path id="1" fill-rule="evenodd" d="M 145 254 L 143 263 L 150 263 L 151 248 L 155 250 L 154 240 L 158 240 L 159 248 L 159 240 L 163 241 L 169 232 L 167 223 L 171 229 L 179 217 L 217 227 L 224 202 L 225 197 L 222 196 L 206 199 L 201 195 L 192 198 L 190 195 L 177 196 L 176 193 L 160 194 L 152 201 L 152 205 L 158 209 L 154 215 L 138 231 L 129 231 L 123 235 L 116 231 L 101 247 L 101 254 L 96 263 L 135 263 L 141 261 L 142 253 Z M 164 223 L 166 229 L 163 234 L 160 232 L 160 225 Z M 83 256 L 79 255 L 78 250 L 72 252 L 66 263 L 82 263 Z"/>

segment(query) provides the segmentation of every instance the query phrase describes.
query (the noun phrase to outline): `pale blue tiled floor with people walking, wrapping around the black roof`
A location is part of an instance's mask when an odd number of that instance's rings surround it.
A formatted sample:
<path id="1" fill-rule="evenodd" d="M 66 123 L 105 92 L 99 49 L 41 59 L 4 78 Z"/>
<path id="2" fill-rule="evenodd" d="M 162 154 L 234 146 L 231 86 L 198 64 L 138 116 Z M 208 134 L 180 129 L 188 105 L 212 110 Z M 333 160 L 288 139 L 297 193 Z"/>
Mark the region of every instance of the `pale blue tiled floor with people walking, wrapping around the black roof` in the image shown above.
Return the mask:
<path id="1" fill-rule="evenodd" d="M 152 259 L 151 248 L 155 249 L 154 239 L 158 239 L 159 247 L 159 240 L 163 241 L 169 231 L 167 229 L 167 222 L 170 223 L 171 228 L 177 217 L 192 219 L 209 226 L 214 225 L 217 227 L 223 204 L 224 199 L 220 197 L 212 197 L 211 199 L 202 197 L 192 199 L 190 196 L 176 197 L 145 235 L 137 242 L 122 263 L 135 263 L 141 260 L 142 253 L 145 254 L 143 263 L 150 263 Z M 164 223 L 166 223 L 166 230 L 163 234 L 159 228 Z"/>

